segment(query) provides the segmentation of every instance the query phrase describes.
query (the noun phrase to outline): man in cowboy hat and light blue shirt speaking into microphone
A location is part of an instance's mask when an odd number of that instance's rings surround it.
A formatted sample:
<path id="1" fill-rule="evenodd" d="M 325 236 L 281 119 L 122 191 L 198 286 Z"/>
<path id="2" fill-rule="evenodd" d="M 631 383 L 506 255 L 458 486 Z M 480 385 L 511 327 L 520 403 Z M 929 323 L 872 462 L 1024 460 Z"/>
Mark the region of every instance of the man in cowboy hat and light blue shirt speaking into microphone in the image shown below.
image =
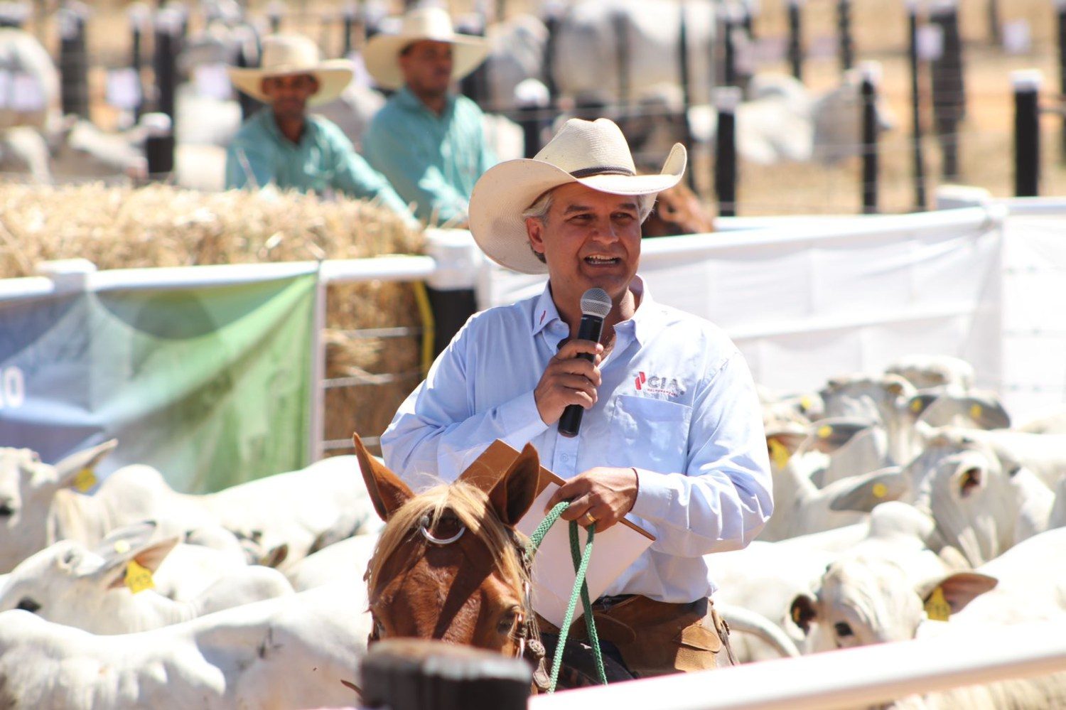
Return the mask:
<path id="1" fill-rule="evenodd" d="M 704 555 L 746 546 L 773 511 L 744 358 L 636 275 L 641 223 L 684 164 L 677 144 L 660 174 L 636 175 L 615 124 L 571 118 L 534 159 L 486 172 L 470 198 L 474 239 L 548 284 L 472 317 L 382 436 L 386 463 L 416 486 L 422 473 L 454 480 L 495 439 L 531 442 L 568 479 L 549 503 L 569 499 L 564 518 L 603 531 L 628 517 L 653 532 L 595 604 L 609 620 L 600 638 L 645 676 L 715 664 L 727 633 Z M 611 310 L 592 342 L 578 338 L 580 301 L 597 287 Z M 566 437 L 556 423 L 574 404 L 584 418 Z"/>

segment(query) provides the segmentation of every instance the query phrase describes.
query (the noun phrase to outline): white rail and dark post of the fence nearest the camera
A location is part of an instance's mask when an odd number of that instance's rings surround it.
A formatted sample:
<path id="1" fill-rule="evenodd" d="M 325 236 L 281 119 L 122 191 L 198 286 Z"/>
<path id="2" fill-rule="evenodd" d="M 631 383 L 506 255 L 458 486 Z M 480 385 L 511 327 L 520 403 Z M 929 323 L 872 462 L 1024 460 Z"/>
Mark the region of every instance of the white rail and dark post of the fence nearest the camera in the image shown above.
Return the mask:
<path id="1" fill-rule="evenodd" d="M 471 698 L 499 693 L 500 710 L 584 710 L 589 707 L 657 710 L 843 710 L 885 707 L 908 696 L 950 692 L 967 685 L 1033 679 L 1066 672 L 1063 622 L 956 630 L 794 659 L 649 678 L 613 685 L 515 697 L 524 661 L 462 658 L 429 647 L 385 658 L 371 648 L 364 682 L 374 700 L 393 710 L 461 710 Z M 395 643 L 395 642 L 392 642 Z M 506 665 L 515 667 L 507 669 Z M 529 671 L 524 669 L 528 674 Z M 398 682 L 402 680 L 403 682 Z M 389 682 L 391 681 L 391 682 Z M 434 693 L 445 689 L 446 693 Z M 529 684 L 527 682 L 527 689 Z M 1033 696 L 1031 696 L 1033 697 Z M 1043 699 L 1038 692 L 1035 697 Z M 955 705 L 973 696 L 955 698 Z M 904 704 L 904 707 L 924 707 Z M 983 706 L 982 706 L 983 707 Z"/>

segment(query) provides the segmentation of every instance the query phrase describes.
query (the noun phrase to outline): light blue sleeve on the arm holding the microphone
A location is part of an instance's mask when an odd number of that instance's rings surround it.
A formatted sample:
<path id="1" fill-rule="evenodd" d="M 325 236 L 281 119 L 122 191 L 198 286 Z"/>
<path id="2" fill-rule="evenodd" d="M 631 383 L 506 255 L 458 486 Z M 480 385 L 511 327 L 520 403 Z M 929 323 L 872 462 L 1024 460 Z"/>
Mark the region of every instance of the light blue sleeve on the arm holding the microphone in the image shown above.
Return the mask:
<path id="1" fill-rule="evenodd" d="M 385 464 L 413 485 L 421 486 L 423 475 L 454 481 L 496 439 L 521 449 L 547 429 L 532 390 L 474 412 L 467 335 L 461 330 L 440 354 L 382 435 Z"/>

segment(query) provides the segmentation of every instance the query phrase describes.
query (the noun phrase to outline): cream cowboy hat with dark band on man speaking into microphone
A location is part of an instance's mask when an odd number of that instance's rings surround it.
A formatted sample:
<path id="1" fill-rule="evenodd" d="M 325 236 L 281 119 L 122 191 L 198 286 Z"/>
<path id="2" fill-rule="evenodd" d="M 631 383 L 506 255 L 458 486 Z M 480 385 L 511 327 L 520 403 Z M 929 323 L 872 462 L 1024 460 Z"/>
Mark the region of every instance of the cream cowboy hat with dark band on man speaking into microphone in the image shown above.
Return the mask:
<path id="1" fill-rule="evenodd" d="M 675 143 L 662 172 L 637 175 L 626 138 L 614 122 L 570 118 L 532 159 L 508 160 L 481 176 L 470 195 L 470 231 L 501 267 L 546 274 L 547 264 L 530 248 L 522 217 L 540 195 L 570 182 L 615 195 L 653 195 L 681 180 L 685 160 L 684 146 Z"/>

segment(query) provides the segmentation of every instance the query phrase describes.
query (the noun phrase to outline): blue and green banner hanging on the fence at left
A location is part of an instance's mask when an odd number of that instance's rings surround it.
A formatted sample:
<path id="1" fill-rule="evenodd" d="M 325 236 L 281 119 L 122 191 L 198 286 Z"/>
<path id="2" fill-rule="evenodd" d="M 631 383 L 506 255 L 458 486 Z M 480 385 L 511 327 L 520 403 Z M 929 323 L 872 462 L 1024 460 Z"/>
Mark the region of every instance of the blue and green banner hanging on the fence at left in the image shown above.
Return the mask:
<path id="1" fill-rule="evenodd" d="M 148 464 L 189 493 L 301 468 L 316 280 L 0 304 L 0 322 L 23 326 L 9 333 L 29 338 L 0 353 L 25 381 L 19 406 L 0 409 L 0 446 L 51 461 L 115 437 L 104 470 Z"/>

